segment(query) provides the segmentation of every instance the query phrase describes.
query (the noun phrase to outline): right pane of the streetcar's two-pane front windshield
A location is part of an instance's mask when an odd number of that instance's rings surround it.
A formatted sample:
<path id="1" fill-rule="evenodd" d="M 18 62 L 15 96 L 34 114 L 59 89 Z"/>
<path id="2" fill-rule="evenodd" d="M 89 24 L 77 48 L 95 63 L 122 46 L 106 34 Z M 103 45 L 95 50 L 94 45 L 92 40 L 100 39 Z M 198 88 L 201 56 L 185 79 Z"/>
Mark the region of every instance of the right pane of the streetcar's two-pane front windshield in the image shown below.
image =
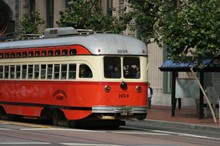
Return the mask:
<path id="1" fill-rule="evenodd" d="M 125 57 L 123 60 L 124 78 L 140 78 L 140 60 L 138 57 Z"/>

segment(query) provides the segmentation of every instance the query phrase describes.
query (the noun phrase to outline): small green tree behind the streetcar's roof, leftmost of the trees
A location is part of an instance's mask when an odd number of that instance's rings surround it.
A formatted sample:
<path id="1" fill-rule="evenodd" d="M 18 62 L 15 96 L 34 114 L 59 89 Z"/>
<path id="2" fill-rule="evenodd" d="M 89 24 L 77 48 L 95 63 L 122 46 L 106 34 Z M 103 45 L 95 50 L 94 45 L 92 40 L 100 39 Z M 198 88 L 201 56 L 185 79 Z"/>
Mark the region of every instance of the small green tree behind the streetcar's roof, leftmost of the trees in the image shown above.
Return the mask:
<path id="1" fill-rule="evenodd" d="M 26 14 L 24 15 L 19 24 L 19 31 L 24 34 L 37 34 L 38 26 L 45 24 L 45 22 L 40 18 L 39 12 L 32 12 L 30 17 Z"/>

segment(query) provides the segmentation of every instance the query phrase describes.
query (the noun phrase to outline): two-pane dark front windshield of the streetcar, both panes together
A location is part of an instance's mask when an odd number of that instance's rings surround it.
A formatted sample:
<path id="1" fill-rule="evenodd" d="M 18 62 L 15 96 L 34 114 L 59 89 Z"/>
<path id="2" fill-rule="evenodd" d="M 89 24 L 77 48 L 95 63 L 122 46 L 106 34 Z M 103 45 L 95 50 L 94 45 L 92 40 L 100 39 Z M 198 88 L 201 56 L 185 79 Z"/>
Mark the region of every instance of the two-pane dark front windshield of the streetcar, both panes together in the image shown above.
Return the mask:
<path id="1" fill-rule="evenodd" d="M 139 79 L 140 60 L 138 57 L 105 57 L 104 76 L 105 78 L 121 78 L 123 76 L 128 79 Z"/>

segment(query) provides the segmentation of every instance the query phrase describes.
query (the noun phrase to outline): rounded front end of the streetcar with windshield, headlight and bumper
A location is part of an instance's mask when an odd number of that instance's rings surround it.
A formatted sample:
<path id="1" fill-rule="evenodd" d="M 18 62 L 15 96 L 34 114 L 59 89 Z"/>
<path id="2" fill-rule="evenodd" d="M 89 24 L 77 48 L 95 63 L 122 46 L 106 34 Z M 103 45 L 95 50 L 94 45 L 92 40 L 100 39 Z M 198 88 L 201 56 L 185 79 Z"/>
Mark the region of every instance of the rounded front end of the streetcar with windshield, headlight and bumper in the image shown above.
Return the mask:
<path id="1" fill-rule="evenodd" d="M 93 89 L 92 114 L 100 119 L 143 120 L 147 116 L 147 48 L 132 37 L 110 37 L 109 42 L 102 36 L 108 45 L 98 49 L 94 61 L 100 85 Z"/>

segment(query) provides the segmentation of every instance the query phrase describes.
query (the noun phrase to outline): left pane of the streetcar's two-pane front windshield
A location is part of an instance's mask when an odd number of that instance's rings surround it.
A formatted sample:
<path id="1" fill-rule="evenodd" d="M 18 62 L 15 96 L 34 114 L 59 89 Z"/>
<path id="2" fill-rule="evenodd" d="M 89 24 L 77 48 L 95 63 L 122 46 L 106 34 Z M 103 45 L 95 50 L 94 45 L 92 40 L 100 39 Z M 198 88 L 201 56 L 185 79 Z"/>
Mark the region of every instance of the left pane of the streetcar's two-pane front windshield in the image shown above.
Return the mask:
<path id="1" fill-rule="evenodd" d="M 120 57 L 104 58 L 105 78 L 121 78 L 121 59 Z"/>

